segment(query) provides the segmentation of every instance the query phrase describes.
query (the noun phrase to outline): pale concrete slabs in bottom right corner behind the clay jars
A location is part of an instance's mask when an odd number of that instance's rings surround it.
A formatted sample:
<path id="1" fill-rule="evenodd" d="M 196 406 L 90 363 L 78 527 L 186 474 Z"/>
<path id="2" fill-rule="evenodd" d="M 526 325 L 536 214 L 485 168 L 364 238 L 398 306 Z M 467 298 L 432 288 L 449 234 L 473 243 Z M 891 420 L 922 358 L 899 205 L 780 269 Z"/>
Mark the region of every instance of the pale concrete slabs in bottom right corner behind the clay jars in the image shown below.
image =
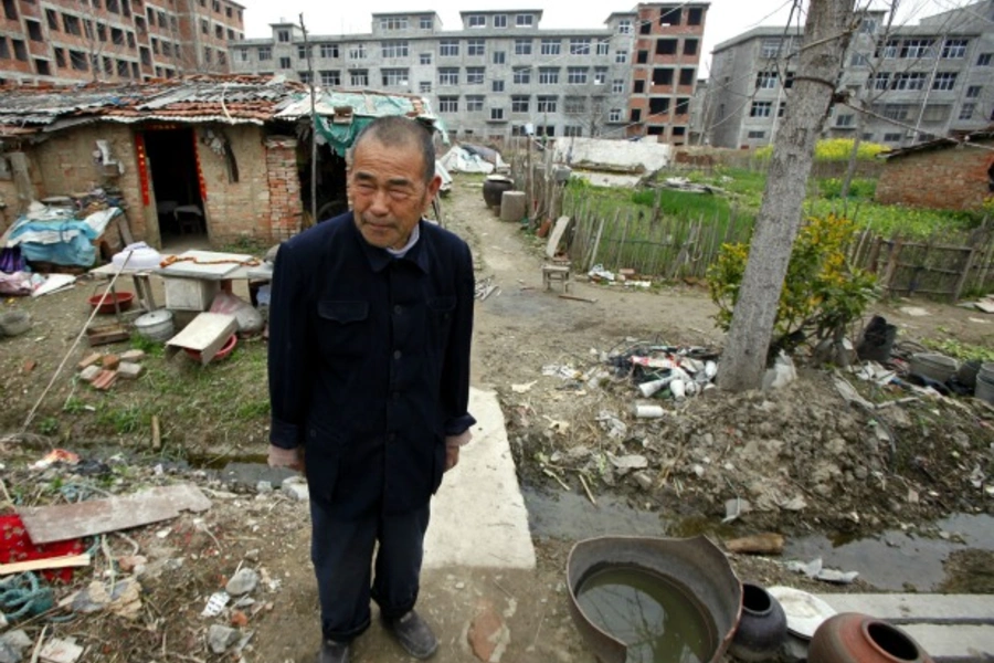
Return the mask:
<path id="1" fill-rule="evenodd" d="M 994 660 L 994 596 L 819 594 L 838 612 L 899 625 L 938 662 Z"/>

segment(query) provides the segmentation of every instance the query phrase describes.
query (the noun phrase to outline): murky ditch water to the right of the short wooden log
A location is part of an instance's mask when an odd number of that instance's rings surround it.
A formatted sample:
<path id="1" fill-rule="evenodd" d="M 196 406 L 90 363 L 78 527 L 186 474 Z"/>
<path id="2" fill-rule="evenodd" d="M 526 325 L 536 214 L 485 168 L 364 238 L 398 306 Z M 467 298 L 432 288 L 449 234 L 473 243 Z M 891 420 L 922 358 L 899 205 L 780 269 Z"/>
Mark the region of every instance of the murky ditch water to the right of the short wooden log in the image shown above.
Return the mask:
<path id="1" fill-rule="evenodd" d="M 947 579 L 943 562 L 955 550 L 994 550 L 994 517 L 954 515 L 935 523 L 943 532 L 955 533 L 964 543 L 922 538 L 901 530 L 888 530 L 874 538 L 833 546 L 822 535 L 789 539 L 784 559 L 811 560 L 821 557 L 826 567 L 859 571 L 860 579 L 885 590 L 935 591 Z"/>

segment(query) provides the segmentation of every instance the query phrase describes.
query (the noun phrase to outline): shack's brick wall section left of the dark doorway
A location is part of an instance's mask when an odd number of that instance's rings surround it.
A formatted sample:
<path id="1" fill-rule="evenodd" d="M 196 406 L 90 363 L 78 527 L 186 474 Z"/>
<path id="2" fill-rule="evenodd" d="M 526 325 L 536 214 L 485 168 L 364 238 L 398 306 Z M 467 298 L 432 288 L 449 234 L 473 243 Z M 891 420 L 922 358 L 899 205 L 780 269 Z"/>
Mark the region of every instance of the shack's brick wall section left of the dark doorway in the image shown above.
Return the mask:
<path id="1" fill-rule="evenodd" d="M 103 175 L 103 167 L 97 165 L 93 157 L 97 140 L 107 141 L 110 158 L 124 166 L 123 175 L 113 178 Z M 39 197 L 68 196 L 91 191 L 98 186 L 117 187 L 127 207 L 125 211 L 128 214 L 131 234 L 136 241 L 147 238 L 148 229 L 145 225 L 141 185 L 138 178 L 138 155 L 130 127 L 103 123 L 66 129 L 39 145 L 33 157 L 41 172 Z M 112 245 L 115 243 L 110 242 Z"/>

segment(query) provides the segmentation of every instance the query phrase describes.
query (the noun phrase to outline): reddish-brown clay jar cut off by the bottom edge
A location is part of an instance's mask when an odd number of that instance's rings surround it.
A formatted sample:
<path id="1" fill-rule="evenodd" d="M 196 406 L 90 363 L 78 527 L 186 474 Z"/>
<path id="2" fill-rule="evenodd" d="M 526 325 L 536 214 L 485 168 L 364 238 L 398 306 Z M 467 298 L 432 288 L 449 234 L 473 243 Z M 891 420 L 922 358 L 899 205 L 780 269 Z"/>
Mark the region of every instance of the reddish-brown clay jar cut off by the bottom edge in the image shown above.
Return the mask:
<path id="1" fill-rule="evenodd" d="M 811 639 L 808 663 L 932 663 L 914 640 L 884 620 L 843 612 Z"/>

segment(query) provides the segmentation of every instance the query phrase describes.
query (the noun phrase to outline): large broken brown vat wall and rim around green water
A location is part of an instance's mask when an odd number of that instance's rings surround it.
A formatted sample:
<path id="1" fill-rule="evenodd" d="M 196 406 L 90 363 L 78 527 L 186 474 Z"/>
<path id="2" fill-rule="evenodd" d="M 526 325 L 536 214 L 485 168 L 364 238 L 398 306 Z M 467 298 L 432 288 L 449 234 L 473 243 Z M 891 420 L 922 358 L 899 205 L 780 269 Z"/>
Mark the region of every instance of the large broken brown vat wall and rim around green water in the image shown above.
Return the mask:
<path id="1" fill-rule="evenodd" d="M 581 583 L 610 567 L 639 568 L 681 586 L 716 631 L 713 651 L 702 661 L 720 661 L 739 624 L 742 583 L 715 544 L 704 536 L 687 539 L 605 536 L 573 546 L 567 565 L 573 621 L 602 663 L 625 663 L 625 643 L 589 619 L 578 600 Z"/>

